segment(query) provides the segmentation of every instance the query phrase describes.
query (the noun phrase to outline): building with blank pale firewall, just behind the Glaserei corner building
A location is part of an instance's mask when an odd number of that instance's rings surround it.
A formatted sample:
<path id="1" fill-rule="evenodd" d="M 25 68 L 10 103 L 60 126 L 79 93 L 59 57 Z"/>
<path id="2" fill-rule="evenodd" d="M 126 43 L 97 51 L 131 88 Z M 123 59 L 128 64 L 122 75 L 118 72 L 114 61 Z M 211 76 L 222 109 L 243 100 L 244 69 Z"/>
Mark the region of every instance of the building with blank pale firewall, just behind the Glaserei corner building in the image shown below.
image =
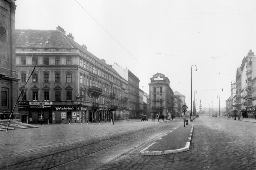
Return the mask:
<path id="1" fill-rule="evenodd" d="M 128 111 L 132 118 L 140 118 L 140 92 L 139 78 L 136 77 L 129 69 L 123 69 L 117 63 L 112 68 L 125 80 L 128 81 Z"/>

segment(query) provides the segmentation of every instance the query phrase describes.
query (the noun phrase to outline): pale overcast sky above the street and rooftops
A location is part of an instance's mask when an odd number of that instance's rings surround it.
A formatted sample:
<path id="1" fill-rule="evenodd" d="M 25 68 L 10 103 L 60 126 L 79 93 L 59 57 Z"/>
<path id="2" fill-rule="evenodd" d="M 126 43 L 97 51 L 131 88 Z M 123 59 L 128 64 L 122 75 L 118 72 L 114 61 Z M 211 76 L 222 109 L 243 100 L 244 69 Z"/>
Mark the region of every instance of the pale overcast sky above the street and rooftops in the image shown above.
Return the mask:
<path id="1" fill-rule="evenodd" d="M 17 0 L 16 29 L 56 30 L 140 79 L 162 73 L 197 107 L 225 107 L 236 68 L 256 52 L 255 0 Z M 223 88 L 223 91 L 221 90 Z M 215 110 L 214 110 L 215 111 Z"/>

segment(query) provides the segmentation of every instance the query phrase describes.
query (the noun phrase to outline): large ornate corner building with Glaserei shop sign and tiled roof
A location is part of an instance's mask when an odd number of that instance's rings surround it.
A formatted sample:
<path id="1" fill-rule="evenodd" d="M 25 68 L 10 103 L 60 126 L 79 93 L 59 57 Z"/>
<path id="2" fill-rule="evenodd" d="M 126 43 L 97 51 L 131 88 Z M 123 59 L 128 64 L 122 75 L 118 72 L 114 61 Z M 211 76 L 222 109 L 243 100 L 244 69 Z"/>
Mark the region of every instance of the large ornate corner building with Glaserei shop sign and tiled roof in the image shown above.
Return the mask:
<path id="1" fill-rule="evenodd" d="M 19 91 L 24 90 L 18 107 L 23 121 L 128 118 L 128 81 L 65 33 L 60 26 L 57 30 L 16 30 L 16 69 Z"/>

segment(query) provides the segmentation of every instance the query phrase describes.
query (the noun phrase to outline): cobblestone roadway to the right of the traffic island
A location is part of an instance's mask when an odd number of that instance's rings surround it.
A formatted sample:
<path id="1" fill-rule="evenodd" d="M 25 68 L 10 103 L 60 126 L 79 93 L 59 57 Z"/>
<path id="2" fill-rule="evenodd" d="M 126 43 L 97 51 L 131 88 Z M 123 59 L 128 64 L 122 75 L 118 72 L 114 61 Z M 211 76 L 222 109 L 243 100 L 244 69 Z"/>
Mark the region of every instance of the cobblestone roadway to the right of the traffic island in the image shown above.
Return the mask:
<path id="1" fill-rule="evenodd" d="M 162 156 L 133 154 L 102 169 L 254 169 L 256 123 L 199 117 L 190 150 Z"/>

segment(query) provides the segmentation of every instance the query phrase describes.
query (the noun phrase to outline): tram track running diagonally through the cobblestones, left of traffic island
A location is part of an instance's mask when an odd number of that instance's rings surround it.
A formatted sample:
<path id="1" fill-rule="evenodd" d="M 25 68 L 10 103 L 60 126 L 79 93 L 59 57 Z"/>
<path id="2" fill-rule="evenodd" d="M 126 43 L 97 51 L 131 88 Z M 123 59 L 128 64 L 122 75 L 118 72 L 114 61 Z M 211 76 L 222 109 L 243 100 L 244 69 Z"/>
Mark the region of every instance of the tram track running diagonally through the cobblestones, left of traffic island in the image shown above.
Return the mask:
<path id="1" fill-rule="evenodd" d="M 98 140 L 96 142 L 91 142 L 86 145 L 72 147 L 69 149 L 64 149 L 64 150 L 61 150 L 61 151 L 58 151 L 55 153 L 46 154 L 46 155 L 35 157 L 32 159 L 26 159 L 25 161 L 20 161 L 18 163 L 14 163 L 14 164 L 11 164 L 11 165 L 8 165 L 5 167 L 1 167 L 0 169 L 6 169 L 6 168 L 8 170 L 22 169 L 21 167 L 26 167 L 26 165 L 29 166 L 31 164 L 33 165 L 33 163 L 47 162 L 47 160 L 55 160 L 59 157 L 62 157 L 62 158 L 64 157 L 64 159 L 62 161 L 56 162 L 55 165 L 48 165 L 48 167 L 47 167 L 48 169 L 55 169 L 57 167 L 68 164 L 70 162 L 74 162 L 79 159 L 89 157 L 93 154 L 96 154 L 98 152 L 109 149 L 111 147 L 115 147 L 115 146 L 120 145 L 129 140 L 133 140 L 135 138 L 139 138 L 143 135 L 157 131 L 157 130 L 161 129 L 165 124 L 166 123 L 161 123 L 159 125 L 155 125 L 152 127 L 141 128 L 136 131 L 128 132 L 126 134 L 121 134 L 121 135 L 106 138 L 103 140 Z M 104 142 L 104 144 L 103 144 L 103 142 Z M 100 148 L 98 148 L 97 146 L 100 146 Z M 73 155 L 73 156 L 70 157 L 69 155 Z M 42 166 L 42 165 L 38 165 L 38 166 L 39 167 L 37 167 L 35 169 L 40 168 L 40 166 Z M 46 169 L 45 166 L 44 166 L 44 169 Z"/>

